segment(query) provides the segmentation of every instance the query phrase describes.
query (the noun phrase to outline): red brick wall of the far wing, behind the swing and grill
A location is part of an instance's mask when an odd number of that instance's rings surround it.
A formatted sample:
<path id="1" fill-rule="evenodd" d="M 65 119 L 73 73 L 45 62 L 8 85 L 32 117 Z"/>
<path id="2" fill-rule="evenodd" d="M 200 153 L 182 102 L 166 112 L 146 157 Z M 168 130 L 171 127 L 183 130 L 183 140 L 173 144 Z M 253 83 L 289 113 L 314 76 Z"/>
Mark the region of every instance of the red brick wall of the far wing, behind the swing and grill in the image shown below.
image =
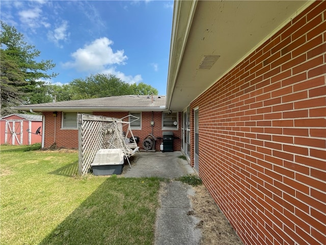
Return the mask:
<path id="1" fill-rule="evenodd" d="M 115 118 L 122 118 L 128 115 L 128 112 L 93 112 L 93 115 L 103 115 Z M 44 148 L 49 148 L 53 142 L 56 142 L 58 148 L 78 148 L 78 130 L 61 129 L 61 116 L 62 113 L 58 112 L 57 117 L 53 116 L 52 112 L 43 112 L 45 116 L 45 135 L 44 135 Z M 153 127 L 153 135 L 155 137 L 162 137 L 162 120 L 161 112 L 153 112 L 153 120 L 155 122 Z M 56 133 L 55 133 L 55 120 L 56 120 Z M 127 118 L 125 119 L 128 120 Z M 143 140 L 152 133 L 152 112 L 142 112 L 142 130 L 132 130 L 134 136 L 140 138 L 138 145 L 143 148 Z M 181 125 L 181 115 L 179 115 L 179 125 Z M 173 131 L 174 136 L 181 138 L 181 127 L 178 131 Z M 126 130 L 127 131 L 127 130 Z M 56 139 L 55 139 L 56 134 Z M 131 135 L 128 135 L 131 137 Z M 155 150 L 160 150 L 160 143 L 162 139 L 157 139 L 155 142 Z M 180 151 L 180 139 L 174 140 L 174 150 Z"/>

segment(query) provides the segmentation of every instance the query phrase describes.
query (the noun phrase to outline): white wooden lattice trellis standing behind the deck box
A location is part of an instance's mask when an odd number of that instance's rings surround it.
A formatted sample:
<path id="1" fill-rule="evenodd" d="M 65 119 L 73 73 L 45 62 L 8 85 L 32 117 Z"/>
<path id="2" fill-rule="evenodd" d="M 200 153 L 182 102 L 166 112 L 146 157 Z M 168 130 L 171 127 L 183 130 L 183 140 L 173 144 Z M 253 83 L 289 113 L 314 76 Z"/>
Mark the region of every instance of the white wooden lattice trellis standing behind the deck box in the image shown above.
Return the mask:
<path id="1" fill-rule="evenodd" d="M 85 175 L 91 168 L 95 154 L 100 149 L 121 149 L 128 160 L 139 147 L 136 143 L 129 143 L 123 136 L 123 127 L 127 126 L 127 133 L 134 137 L 130 130 L 130 123 L 123 118 L 78 114 L 78 174 Z"/>

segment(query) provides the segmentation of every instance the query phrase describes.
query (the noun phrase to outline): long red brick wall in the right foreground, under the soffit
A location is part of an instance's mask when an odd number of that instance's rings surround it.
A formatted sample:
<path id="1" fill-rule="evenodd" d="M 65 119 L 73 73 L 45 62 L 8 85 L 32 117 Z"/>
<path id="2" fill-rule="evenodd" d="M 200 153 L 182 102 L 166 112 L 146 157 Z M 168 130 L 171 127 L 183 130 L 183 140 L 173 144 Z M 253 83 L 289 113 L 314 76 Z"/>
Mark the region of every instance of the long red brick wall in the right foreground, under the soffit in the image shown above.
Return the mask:
<path id="1" fill-rule="evenodd" d="M 326 243 L 325 8 L 313 3 L 191 104 L 200 176 L 246 244 Z"/>

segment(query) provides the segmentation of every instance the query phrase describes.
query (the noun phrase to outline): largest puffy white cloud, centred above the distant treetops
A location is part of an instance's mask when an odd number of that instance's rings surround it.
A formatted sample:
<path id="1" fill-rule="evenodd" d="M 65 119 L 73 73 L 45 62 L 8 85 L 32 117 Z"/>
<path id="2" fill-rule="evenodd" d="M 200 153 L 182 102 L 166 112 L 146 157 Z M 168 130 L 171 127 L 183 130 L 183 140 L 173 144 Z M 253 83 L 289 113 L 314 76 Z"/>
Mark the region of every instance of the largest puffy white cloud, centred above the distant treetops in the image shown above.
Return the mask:
<path id="1" fill-rule="evenodd" d="M 75 68 L 78 71 L 98 72 L 108 65 L 125 64 L 128 59 L 123 50 L 114 52 L 111 48 L 113 41 L 106 38 L 98 38 L 91 44 L 71 54 L 73 61 L 64 63 L 67 68 Z"/>

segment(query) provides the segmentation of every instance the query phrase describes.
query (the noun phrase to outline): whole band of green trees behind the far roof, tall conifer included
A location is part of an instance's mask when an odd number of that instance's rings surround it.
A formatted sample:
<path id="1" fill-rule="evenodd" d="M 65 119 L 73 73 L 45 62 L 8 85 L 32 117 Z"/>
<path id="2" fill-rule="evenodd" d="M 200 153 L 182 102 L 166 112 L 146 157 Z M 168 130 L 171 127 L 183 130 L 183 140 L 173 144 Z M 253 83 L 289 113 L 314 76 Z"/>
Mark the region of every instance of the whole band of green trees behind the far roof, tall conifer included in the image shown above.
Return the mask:
<path id="1" fill-rule="evenodd" d="M 158 94 L 157 89 L 145 83 L 129 84 L 111 74 L 96 74 L 85 79 L 74 79 L 68 84 L 53 85 L 45 79 L 56 77 L 47 71 L 56 65 L 52 60 L 36 61 L 40 51 L 24 42 L 23 34 L 1 21 L 1 83 L 0 116 L 16 111 L 11 107 L 22 104 L 40 104 L 52 101 L 92 99 L 118 95 Z"/>

